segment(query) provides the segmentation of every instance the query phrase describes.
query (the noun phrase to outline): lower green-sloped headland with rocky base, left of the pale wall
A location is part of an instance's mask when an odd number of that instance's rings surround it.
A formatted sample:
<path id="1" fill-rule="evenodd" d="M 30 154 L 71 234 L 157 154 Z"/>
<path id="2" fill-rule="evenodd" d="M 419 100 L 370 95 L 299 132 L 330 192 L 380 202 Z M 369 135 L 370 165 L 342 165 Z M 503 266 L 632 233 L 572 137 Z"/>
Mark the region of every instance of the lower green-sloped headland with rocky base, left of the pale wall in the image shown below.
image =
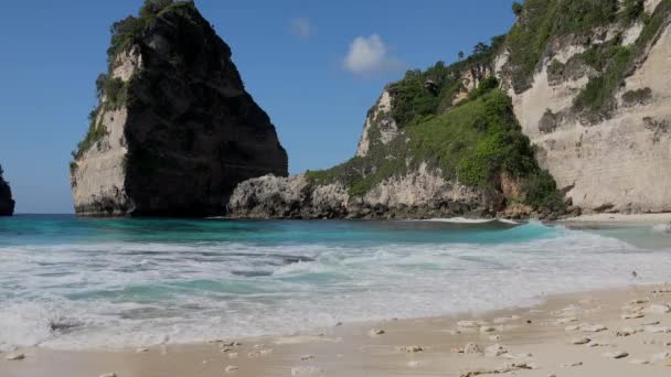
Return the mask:
<path id="1" fill-rule="evenodd" d="M 387 86 L 366 116 L 353 159 L 326 171 L 243 182 L 231 197 L 228 214 L 256 218 L 551 215 L 561 200 L 552 179 L 535 164 L 510 98 L 492 85 L 489 74 L 462 78 L 461 69 L 439 64 Z M 473 82 L 484 83 L 481 90 L 475 90 L 480 86 Z M 409 114 L 426 103 L 430 104 L 420 110 L 426 114 Z M 545 192 L 537 190 L 537 182 L 547 185 Z"/>

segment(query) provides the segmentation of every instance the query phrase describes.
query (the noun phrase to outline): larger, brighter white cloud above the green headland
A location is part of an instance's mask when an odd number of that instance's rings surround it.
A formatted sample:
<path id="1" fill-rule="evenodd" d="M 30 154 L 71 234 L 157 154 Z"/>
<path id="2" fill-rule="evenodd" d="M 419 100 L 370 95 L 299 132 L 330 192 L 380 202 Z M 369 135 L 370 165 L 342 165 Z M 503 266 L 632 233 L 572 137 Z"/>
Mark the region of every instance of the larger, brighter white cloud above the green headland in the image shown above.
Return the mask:
<path id="1" fill-rule="evenodd" d="M 388 56 L 388 50 L 380 35 L 373 34 L 354 39 L 344 57 L 344 67 L 355 74 L 366 74 L 398 71 L 403 68 L 403 64 Z"/>

